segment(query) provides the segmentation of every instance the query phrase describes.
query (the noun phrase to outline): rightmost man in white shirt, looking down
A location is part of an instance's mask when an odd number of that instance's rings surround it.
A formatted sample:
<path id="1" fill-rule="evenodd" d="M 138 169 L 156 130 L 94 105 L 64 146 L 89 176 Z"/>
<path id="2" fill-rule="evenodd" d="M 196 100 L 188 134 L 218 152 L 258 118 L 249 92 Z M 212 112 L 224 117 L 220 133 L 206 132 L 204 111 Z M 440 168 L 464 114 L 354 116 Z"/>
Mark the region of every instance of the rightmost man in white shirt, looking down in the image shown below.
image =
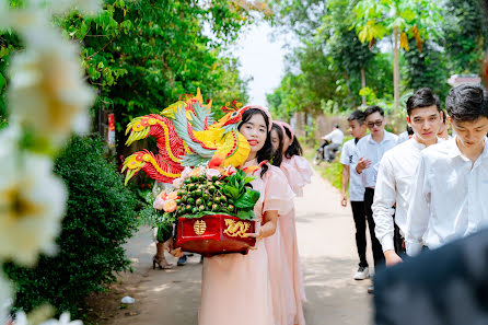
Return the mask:
<path id="1" fill-rule="evenodd" d="M 407 214 L 407 254 L 464 237 L 488 224 L 488 95 L 462 84 L 445 101 L 456 136 L 422 151 Z"/>

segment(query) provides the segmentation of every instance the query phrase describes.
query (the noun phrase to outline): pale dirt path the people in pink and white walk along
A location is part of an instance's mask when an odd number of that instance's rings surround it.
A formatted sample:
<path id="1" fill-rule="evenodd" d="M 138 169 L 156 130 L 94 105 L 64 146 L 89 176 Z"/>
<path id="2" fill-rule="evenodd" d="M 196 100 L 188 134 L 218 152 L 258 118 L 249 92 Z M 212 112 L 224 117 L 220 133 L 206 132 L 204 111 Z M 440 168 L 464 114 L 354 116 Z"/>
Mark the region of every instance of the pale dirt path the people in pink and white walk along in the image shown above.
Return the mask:
<path id="1" fill-rule="evenodd" d="M 358 257 L 350 208 L 339 205 L 337 189 L 314 175 L 304 197 L 297 199 L 299 248 L 305 275 L 309 325 L 371 323 L 369 280 L 355 281 Z M 152 270 L 151 231 L 141 229 L 127 245 L 133 272 L 123 275 L 111 293 L 93 298 L 93 313 L 104 325 L 196 325 L 200 303 L 199 256 L 173 270 Z M 176 264 L 172 257 L 169 260 Z M 372 260 L 369 256 L 369 260 Z M 136 299 L 120 306 L 124 295 Z M 103 305 L 104 307 L 97 307 Z M 95 323 L 96 324 L 96 323 Z M 231 325 L 231 324 L 230 324 Z"/>

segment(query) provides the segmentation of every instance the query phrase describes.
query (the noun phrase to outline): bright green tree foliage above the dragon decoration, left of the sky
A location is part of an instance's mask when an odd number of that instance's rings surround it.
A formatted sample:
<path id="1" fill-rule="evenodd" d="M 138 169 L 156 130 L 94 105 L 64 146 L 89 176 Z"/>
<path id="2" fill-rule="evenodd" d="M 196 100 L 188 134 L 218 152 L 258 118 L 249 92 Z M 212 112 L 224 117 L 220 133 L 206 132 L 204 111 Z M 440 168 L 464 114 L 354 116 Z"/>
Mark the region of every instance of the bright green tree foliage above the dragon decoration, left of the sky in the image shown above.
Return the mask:
<path id="1" fill-rule="evenodd" d="M 98 93 L 93 116 L 113 111 L 124 143 L 121 131 L 131 118 L 159 113 L 198 88 L 216 109 L 231 100 L 246 102 L 247 80 L 228 49 L 243 26 L 268 14 L 258 1 L 105 0 L 96 18 L 72 12 L 54 23 L 81 45 L 88 81 Z M 20 45 L 8 33 L 0 35 L 0 45 L 4 76 L 9 55 Z"/>

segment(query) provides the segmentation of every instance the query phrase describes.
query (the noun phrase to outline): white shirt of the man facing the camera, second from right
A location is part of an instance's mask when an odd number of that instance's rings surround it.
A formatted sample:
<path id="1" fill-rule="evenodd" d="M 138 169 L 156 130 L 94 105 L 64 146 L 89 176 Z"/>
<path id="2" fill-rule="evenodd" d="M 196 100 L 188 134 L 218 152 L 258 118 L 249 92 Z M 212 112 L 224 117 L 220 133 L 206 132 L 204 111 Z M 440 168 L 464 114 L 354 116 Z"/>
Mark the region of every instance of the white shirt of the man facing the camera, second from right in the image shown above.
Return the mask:
<path id="1" fill-rule="evenodd" d="M 426 146 L 411 138 L 383 155 L 377 171 L 374 201 L 371 206 L 374 232 L 383 252 L 394 249 L 395 223 L 404 235 L 407 227 L 407 211 L 415 186 L 420 152 Z M 396 209 L 393 206 L 396 202 Z"/>

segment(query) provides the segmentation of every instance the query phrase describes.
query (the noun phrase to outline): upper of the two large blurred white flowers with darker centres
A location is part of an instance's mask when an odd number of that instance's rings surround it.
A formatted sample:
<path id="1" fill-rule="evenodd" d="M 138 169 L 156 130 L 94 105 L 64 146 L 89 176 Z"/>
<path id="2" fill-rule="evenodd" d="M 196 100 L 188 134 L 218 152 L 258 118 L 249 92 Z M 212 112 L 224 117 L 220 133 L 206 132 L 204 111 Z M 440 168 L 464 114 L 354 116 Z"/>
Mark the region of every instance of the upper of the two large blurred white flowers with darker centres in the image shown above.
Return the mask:
<path id="1" fill-rule="evenodd" d="M 78 48 L 54 30 L 30 28 L 27 48 L 12 58 L 8 90 L 11 120 L 59 147 L 74 130 L 90 130 L 93 90 L 83 81 Z"/>

